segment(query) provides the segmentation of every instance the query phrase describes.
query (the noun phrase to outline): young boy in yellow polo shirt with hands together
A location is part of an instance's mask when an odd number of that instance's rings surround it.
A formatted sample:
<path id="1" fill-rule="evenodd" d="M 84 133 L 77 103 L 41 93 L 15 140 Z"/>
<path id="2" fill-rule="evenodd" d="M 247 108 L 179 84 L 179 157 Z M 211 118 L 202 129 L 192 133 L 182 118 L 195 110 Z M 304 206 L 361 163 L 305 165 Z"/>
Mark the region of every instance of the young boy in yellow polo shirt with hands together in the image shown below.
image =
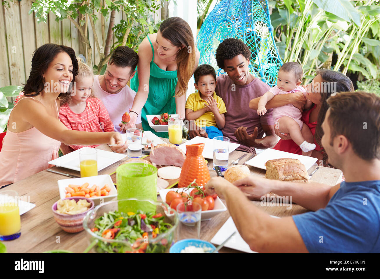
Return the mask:
<path id="1" fill-rule="evenodd" d="M 212 66 L 203 64 L 194 72 L 195 89 L 198 92 L 188 96 L 185 106 L 187 120 L 196 120 L 196 125 L 202 127 L 209 139 L 223 136 L 220 129 L 224 128 L 227 112 L 222 98 L 216 95 L 216 74 Z"/>

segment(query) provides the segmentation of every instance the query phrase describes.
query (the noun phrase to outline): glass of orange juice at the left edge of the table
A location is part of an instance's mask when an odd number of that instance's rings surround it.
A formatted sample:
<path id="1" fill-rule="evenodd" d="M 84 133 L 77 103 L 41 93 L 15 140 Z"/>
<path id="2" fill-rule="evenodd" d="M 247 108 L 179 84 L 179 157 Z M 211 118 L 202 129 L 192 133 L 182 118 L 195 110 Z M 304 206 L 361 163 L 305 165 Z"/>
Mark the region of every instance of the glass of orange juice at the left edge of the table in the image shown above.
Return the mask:
<path id="1" fill-rule="evenodd" d="M 0 240 L 13 240 L 21 235 L 18 194 L 13 190 L 0 191 Z"/>

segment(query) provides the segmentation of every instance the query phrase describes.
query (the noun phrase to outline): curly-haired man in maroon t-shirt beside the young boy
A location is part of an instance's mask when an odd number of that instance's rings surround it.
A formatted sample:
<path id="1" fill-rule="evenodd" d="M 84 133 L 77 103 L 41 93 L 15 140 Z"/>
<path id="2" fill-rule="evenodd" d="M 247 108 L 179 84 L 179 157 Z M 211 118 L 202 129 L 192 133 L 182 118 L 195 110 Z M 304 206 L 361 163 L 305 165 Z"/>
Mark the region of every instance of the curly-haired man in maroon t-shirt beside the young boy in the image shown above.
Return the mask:
<path id="1" fill-rule="evenodd" d="M 270 87 L 249 73 L 250 49 L 239 39 L 225 39 L 216 51 L 218 67 L 227 75 L 219 76 L 216 94 L 226 104 L 226 125 L 223 135 L 231 142 L 240 143 L 237 150 L 256 153 L 255 148 L 272 148 L 277 143 L 272 110 L 262 116 L 249 108 L 251 99 L 260 97 Z M 194 129 L 196 128 L 196 129 Z M 208 137 L 199 127 L 190 131 L 190 137 Z M 265 137 L 263 137 L 265 132 Z"/>

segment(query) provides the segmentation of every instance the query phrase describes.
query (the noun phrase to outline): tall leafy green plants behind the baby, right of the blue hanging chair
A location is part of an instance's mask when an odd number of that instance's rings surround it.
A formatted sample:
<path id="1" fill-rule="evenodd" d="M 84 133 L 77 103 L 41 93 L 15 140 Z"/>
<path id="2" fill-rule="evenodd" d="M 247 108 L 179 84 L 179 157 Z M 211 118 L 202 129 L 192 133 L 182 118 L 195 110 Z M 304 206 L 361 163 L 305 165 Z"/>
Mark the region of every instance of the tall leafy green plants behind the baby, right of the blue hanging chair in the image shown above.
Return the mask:
<path id="1" fill-rule="evenodd" d="M 331 68 L 354 72 L 358 80 L 376 79 L 380 67 L 377 0 L 277 0 L 269 5 L 281 58 L 299 62 L 307 78 L 316 69 Z"/>

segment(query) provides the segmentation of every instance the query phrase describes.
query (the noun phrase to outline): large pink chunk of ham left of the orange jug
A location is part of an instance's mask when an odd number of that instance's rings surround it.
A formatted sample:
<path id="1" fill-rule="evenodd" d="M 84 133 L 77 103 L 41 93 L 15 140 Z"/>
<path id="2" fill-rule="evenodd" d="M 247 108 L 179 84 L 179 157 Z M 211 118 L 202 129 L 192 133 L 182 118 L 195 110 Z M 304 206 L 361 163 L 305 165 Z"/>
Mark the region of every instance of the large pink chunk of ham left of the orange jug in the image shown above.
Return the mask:
<path id="1" fill-rule="evenodd" d="M 154 148 L 154 152 L 150 152 L 150 162 L 157 166 L 176 166 L 182 167 L 185 161 L 185 153 L 171 143 L 162 143 Z"/>

